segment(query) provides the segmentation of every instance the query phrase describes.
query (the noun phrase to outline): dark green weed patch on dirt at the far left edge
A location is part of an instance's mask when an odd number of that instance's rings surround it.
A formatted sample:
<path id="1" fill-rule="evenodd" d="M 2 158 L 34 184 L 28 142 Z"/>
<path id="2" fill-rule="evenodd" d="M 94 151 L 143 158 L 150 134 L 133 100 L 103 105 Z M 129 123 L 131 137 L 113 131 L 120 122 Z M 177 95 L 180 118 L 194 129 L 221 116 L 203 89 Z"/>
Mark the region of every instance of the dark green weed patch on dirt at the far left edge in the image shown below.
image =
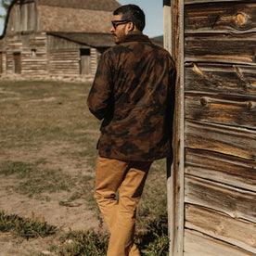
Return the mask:
<path id="1" fill-rule="evenodd" d="M 29 239 L 54 235 L 57 227 L 45 221 L 21 218 L 15 214 L 6 215 L 5 211 L 0 211 L 0 231 L 12 232 L 19 237 Z"/>

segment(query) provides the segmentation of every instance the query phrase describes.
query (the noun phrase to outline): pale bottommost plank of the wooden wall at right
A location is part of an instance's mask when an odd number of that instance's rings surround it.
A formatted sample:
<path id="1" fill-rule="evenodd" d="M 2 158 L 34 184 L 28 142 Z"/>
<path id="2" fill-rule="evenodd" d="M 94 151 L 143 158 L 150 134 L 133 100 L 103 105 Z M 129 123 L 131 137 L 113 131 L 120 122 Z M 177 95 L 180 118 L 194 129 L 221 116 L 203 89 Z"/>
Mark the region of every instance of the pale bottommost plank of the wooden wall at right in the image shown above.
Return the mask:
<path id="1" fill-rule="evenodd" d="M 189 229 L 185 230 L 184 244 L 184 256 L 255 256 L 255 253 Z"/>

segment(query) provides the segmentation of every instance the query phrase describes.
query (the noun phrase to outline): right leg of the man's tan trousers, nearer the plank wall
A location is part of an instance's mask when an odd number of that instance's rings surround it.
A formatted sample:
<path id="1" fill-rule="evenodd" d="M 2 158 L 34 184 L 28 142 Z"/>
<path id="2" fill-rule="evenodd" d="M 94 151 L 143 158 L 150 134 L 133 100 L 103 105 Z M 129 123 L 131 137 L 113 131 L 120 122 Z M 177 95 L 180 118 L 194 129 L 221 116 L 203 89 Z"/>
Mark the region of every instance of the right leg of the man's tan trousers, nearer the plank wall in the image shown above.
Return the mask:
<path id="1" fill-rule="evenodd" d="M 136 207 L 141 198 L 151 162 L 133 161 L 119 191 L 118 211 L 111 227 L 108 256 L 139 256 L 134 245 Z"/>

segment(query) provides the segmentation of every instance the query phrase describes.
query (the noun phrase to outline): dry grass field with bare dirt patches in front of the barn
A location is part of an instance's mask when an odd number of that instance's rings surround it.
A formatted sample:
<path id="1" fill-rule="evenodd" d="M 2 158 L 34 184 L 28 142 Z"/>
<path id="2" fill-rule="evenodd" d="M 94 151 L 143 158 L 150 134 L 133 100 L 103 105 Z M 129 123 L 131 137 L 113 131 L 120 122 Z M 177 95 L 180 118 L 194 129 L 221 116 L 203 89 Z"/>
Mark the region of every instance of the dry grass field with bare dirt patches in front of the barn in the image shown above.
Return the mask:
<path id="1" fill-rule="evenodd" d="M 0 255 L 105 255 L 90 86 L 0 81 Z M 167 255 L 165 176 L 165 160 L 155 161 L 137 212 L 143 255 Z"/>

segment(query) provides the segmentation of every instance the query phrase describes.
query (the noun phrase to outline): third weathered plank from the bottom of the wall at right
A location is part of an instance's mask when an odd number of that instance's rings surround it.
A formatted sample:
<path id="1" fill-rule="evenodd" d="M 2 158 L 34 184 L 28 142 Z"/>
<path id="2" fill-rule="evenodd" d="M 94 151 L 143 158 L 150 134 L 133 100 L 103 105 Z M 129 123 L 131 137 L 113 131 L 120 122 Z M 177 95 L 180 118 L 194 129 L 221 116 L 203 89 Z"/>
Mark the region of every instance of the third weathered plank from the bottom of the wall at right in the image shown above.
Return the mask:
<path id="1" fill-rule="evenodd" d="M 256 223 L 256 193 L 186 175 L 185 201 Z M 254 241 L 255 242 L 255 241 Z"/>

